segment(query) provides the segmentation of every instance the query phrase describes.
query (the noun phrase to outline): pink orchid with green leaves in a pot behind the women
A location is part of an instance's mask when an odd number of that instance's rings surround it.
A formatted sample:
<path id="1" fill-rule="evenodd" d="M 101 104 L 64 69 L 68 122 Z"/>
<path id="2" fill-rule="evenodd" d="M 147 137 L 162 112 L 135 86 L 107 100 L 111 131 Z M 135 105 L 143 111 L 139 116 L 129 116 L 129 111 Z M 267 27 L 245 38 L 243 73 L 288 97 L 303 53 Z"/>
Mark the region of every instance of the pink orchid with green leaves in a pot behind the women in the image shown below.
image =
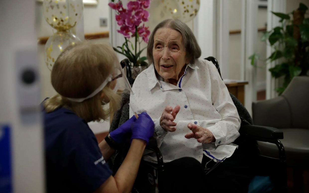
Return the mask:
<path id="1" fill-rule="evenodd" d="M 108 5 L 116 10 L 116 21 L 120 26 L 118 33 L 121 33 L 125 41 L 122 46 L 114 47 L 118 53 L 125 55 L 132 66 L 132 76 L 136 78 L 138 73 L 147 68 L 146 56 L 141 56 L 142 51 L 146 48 L 140 48 L 142 41 L 148 43 L 150 31 L 145 26 L 148 21 L 149 13 L 146 8 L 150 5 L 150 0 L 129 1 L 127 8 L 124 8 L 121 0 L 115 3 L 114 0 Z M 129 38 L 134 37 L 134 42 Z"/>

